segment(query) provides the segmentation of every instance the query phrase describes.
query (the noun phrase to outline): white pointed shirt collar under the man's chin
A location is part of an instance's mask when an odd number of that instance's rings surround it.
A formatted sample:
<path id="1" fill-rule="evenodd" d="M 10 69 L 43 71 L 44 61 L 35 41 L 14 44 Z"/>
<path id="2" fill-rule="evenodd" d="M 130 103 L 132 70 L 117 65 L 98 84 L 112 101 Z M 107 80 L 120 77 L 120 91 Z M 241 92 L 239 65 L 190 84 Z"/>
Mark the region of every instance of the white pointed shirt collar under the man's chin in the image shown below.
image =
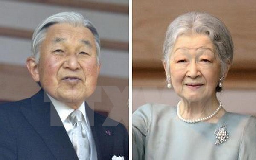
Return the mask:
<path id="1" fill-rule="evenodd" d="M 63 102 L 52 98 L 48 93 L 46 93 L 46 94 L 48 95 L 48 97 L 52 101 L 52 104 L 55 107 L 55 109 L 57 110 L 58 115 L 60 116 L 61 121 L 63 123 L 67 119 L 67 117 L 70 115 L 70 113 L 73 112 L 75 109 L 70 108 L 69 106 L 67 106 Z M 82 112 L 84 118 L 86 119 L 84 101 L 81 104 L 81 106 L 78 108 L 78 110 Z"/>

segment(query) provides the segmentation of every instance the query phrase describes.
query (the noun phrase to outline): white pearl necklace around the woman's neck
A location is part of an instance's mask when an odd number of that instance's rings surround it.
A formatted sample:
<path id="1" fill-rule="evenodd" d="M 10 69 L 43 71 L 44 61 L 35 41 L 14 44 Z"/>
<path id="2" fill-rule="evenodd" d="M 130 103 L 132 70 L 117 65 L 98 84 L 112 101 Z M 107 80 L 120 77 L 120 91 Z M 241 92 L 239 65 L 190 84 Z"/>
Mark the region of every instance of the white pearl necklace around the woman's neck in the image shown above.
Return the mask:
<path id="1" fill-rule="evenodd" d="M 211 119 L 212 117 L 214 117 L 215 115 L 217 115 L 217 113 L 221 110 L 221 107 L 222 107 L 222 104 L 221 104 L 221 101 L 219 101 L 219 107 L 215 110 L 215 112 L 213 112 L 211 115 L 209 115 L 208 117 L 204 117 L 204 118 L 198 118 L 198 119 L 193 119 L 193 120 L 190 120 L 190 119 L 185 119 L 185 118 L 182 118 L 181 115 L 180 115 L 180 102 L 178 103 L 177 105 L 177 116 L 178 118 L 180 118 L 182 121 L 186 122 L 186 123 L 198 123 L 198 122 L 202 122 L 202 121 L 207 121 L 209 119 Z"/>

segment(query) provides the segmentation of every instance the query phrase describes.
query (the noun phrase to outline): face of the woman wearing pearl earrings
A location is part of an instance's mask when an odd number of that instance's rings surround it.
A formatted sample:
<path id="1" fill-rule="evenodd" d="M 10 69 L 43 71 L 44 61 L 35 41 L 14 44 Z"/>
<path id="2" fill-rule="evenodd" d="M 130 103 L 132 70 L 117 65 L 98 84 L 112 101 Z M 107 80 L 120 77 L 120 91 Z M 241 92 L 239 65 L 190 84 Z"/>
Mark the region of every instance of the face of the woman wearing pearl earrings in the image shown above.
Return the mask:
<path id="1" fill-rule="evenodd" d="M 189 102 L 215 95 L 221 74 L 218 54 L 204 34 L 184 34 L 177 38 L 169 61 L 175 92 Z"/>

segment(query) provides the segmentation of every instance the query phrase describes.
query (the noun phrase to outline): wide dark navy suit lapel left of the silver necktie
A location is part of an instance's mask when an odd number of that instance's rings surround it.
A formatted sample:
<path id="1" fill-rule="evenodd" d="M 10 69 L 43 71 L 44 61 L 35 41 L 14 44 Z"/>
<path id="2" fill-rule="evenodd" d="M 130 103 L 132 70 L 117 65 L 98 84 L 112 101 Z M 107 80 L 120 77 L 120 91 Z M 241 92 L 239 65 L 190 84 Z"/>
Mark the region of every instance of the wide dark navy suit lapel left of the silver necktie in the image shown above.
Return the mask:
<path id="1" fill-rule="evenodd" d="M 78 160 L 73 145 L 48 96 L 40 90 L 21 112 L 46 143 L 57 160 Z"/>

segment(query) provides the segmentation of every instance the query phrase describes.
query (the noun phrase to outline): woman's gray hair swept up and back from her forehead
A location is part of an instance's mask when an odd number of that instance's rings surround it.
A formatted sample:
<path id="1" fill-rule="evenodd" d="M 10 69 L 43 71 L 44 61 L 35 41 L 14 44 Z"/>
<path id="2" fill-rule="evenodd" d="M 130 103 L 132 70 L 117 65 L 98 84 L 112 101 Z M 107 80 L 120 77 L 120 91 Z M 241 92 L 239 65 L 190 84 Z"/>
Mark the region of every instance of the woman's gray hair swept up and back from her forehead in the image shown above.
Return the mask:
<path id="1" fill-rule="evenodd" d="M 221 76 L 233 60 L 233 41 L 230 32 L 221 20 L 207 13 L 189 12 L 177 17 L 169 25 L 163 45 L 163 62 L 166 63 L 166 74 L 169 76 L 169 59 L 177 37 L 183 34 L 198 33 L 208 35 L 221 60 Z M 220 92 L 221 87 L 216 87 Z"/>

